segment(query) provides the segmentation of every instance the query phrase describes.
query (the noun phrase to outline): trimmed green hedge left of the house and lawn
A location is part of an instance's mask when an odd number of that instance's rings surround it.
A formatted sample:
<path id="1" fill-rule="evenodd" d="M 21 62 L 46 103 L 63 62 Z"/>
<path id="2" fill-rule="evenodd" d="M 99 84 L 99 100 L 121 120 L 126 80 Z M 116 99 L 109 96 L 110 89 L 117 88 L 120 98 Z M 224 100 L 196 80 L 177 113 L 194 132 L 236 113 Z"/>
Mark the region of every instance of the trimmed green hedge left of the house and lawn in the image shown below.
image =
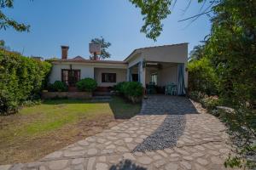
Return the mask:
<path id="1" fill-rule="evenodd" d="M 0 49 L 0 115 L 15 113 L 26 100 L 40 98 L 51 65 Z"/>

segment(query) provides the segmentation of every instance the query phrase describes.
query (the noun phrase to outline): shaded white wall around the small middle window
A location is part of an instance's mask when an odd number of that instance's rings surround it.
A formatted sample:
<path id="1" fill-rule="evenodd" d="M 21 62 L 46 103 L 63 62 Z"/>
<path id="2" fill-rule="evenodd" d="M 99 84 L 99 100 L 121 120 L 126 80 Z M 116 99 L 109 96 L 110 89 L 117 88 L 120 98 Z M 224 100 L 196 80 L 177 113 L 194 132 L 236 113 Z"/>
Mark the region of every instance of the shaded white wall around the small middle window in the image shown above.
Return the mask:
<path id="1" fill-rule="evenodd" d="M 102 73 L 116 73 L 116 82 L 102 82 Z M 126 81 L 126 69 L 95 68 L 94 77 L 98 86 L 109 87 L 117 84 L 118 82 Z"/>

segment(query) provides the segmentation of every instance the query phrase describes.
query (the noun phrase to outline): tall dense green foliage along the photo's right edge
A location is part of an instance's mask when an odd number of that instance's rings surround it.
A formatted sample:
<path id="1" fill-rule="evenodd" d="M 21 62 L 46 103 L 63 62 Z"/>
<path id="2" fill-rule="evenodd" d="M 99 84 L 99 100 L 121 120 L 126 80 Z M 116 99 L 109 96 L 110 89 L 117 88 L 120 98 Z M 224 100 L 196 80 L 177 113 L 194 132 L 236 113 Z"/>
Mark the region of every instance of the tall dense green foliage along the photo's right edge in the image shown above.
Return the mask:
<path id="1" fill-rule="evenodd" d="M 212 32 L 206 44 L 206 54 L 219 79 L 219 96 L 224 105 L 235 111 L 225 114 L 230 130 L 236 135 L 236 153 L 247 165 L 256 156 L 256 2 L 223 0 L 213 8 Z M 226 165 L 236 165 L 237 157 Z"/>

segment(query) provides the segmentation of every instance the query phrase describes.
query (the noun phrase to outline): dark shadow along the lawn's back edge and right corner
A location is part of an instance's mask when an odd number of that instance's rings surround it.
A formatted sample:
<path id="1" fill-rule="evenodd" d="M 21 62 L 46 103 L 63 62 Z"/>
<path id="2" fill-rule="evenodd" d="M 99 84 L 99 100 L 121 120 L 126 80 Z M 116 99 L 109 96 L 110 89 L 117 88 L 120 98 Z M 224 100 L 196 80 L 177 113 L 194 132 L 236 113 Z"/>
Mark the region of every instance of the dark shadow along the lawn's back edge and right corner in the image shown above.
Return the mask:
<path id="1" fill-rule="evenodd" d="M 132 104 L 126 99 L 113 96 L 109 101 L 90 99 L 48 99 L 44 105 L 65 105 L 65 104 L 108 104 L 115 119 L 130 119 L 136 116 L 141 110 L 141 104 Z"/>

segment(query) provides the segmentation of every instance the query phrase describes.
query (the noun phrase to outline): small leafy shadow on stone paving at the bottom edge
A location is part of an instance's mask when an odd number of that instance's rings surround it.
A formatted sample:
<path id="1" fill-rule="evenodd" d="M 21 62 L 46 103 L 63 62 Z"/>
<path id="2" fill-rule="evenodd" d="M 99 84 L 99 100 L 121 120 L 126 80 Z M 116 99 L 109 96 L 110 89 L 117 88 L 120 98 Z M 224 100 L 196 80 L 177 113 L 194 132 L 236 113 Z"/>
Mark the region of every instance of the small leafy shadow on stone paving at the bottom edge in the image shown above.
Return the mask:
<path id="1" fill-rule="evenodd" d="M 118 164 L 113 165 L 109 170 L 147 170 L 145 167 L 140 167 L 131 160 L 119 161 Z"/>

